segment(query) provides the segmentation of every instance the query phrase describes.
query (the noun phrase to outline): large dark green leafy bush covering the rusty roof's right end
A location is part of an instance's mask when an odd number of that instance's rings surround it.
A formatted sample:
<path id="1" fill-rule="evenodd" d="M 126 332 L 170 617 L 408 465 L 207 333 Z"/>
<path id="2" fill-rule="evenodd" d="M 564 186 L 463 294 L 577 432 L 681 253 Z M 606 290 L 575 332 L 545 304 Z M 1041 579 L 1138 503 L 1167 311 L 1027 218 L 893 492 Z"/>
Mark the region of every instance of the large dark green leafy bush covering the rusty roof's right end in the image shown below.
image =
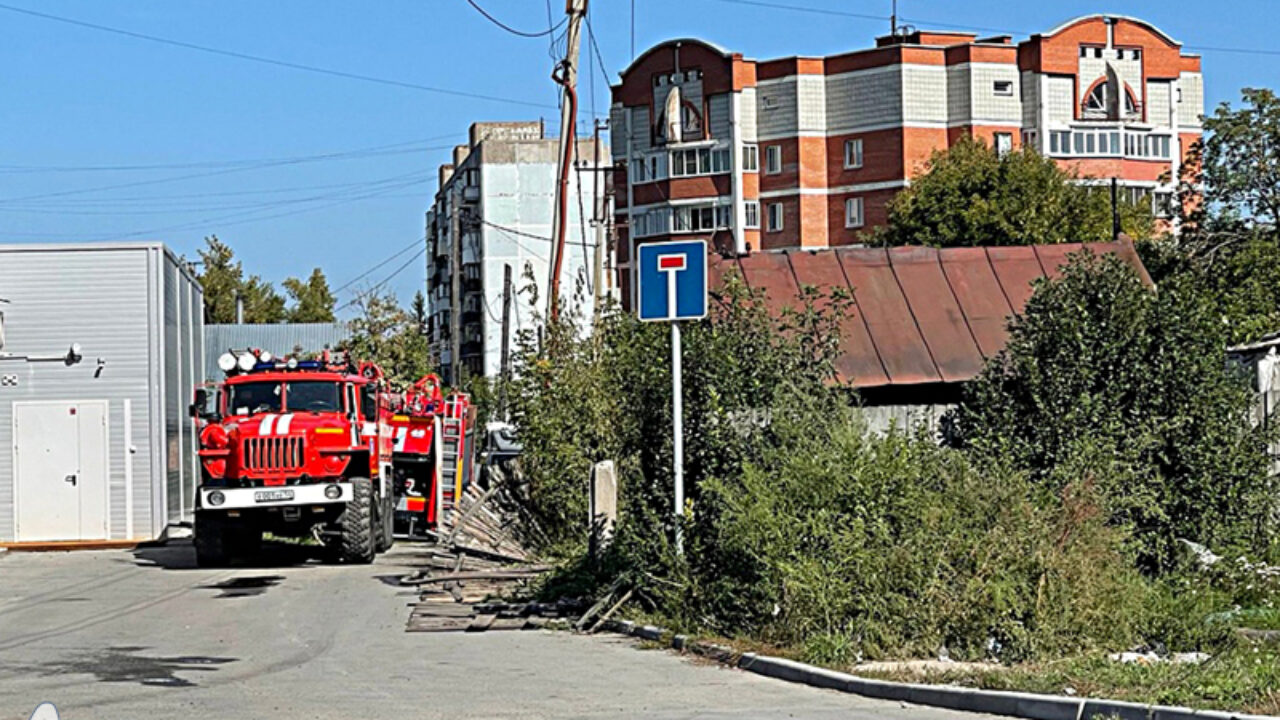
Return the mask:
<path id="1" fill-rule="evenodd" d="M 1148 568 L 1172 562 L 1176 538 L 1267 552 L 1267 433 L 1225 340 L 1193 283 L 1155 292 L 1120 260 L 1079 254 L 968 388 L 959 437 L 1053 491 L 1096 478 Z"/>

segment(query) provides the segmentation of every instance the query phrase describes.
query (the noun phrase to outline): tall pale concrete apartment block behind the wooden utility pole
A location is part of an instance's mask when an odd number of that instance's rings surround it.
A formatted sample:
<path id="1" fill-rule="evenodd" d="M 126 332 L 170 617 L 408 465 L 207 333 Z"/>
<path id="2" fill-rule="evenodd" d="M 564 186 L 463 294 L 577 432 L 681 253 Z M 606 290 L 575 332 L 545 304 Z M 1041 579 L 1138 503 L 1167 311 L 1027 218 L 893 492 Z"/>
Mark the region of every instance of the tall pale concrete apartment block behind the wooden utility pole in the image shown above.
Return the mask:
<path id="1" fill-rule="evenodd" d="M 540 122 L 475 123 L 470 142 L 453 150 L 452 164 L 440 167 L 439 191 L 426 214 L 426 297 L 433 350 L 447 379 L 453 379 L 451 313 L 456 269 L 462 273 L 460 355 L 472 375 L 494 377 L 502 369 L 507 265 L 515 286 L 508 338 L 512 350 L 516 334 L 534 327 L 535 313 L 547 313 L 558 147 L 559 141 L 548 138 Z M 596 152 L 591 140 L 579 141 L 576 150 L 568 177 L 561 297 L 590 316 L 596 238 L 593 209 L 607 179 L 599 173 L 595 181 L 595 158 L 604 167 L 608 158 L 605 149 Z M 608 213 L 612 209 L 602 217 Z M 460 266 L 453 261 L 458 240 L 454 233 L 462 243 Z"/>

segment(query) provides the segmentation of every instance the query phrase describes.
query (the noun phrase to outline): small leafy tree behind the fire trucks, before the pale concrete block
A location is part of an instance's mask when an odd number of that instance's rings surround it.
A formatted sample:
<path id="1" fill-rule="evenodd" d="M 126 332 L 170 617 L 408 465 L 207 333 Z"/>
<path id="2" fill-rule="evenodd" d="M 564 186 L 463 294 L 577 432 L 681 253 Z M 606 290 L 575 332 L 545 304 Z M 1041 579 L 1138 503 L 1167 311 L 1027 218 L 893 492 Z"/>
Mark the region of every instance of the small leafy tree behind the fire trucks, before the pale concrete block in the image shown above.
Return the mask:
<path id="1" fill-rule="evenodd" d="M 430 340 L 392 293 L 369 292 L 356 302 L 347 350 L 381 366 L 393 386 L 412 383 L 430 373 Z"/>

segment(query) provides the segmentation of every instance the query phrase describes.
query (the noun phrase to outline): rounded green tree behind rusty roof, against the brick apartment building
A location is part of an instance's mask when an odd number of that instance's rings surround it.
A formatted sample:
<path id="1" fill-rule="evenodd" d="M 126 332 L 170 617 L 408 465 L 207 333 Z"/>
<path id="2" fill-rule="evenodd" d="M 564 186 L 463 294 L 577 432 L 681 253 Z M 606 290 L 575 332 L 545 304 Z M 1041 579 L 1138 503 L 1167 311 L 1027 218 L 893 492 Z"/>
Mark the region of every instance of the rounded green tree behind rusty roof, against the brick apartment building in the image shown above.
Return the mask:
<path id="1" fill-rule="evenodd" d="M 1033 150 L 997 155 L 961 138 L 933 154 L 928 169 L 888 205 L 879 245 L 1043 245 L 1111 240 L 1110 192 L 1084 187 Z M 1149 208 L 1124 201 L 1121 229 L 1152 232 Z"/>

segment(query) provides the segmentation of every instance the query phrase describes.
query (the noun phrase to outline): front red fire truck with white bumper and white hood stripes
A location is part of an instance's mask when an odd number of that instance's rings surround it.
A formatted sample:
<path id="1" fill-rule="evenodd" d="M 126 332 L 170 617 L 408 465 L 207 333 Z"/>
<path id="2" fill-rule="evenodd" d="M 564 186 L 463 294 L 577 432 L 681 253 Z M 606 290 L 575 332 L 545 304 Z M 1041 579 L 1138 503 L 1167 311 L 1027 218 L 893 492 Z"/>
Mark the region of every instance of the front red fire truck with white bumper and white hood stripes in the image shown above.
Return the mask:
<path id="1" fill-rule="evenodd" d="M 255 555 L 262 533 L 316 533 L 329 557 L 371 562 L 393 542 L 390 396 L 381 370 L 325 352 L 219 357 L 227 379 L 196 392 L 204 466 L 196 559 Z M 210 404 L 210 401 L 212 401 Z"/>

